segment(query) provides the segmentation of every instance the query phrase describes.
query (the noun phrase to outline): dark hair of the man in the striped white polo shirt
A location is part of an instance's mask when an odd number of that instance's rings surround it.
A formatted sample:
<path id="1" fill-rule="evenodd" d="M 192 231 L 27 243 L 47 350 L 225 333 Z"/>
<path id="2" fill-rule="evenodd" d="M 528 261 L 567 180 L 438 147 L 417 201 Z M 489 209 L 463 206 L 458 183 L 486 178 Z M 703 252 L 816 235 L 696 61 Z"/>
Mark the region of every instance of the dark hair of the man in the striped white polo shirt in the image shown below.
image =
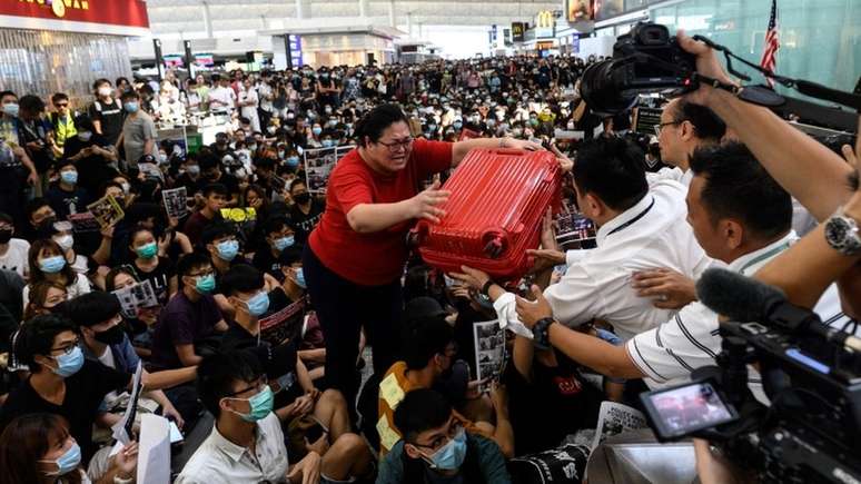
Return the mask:
<path id="1" fill-rule="evenodd" d="M 699 148 L 691 156 L 691 170 L 705 179 L 701 199 L 712 223 L 739 219 L 745 231 L 761 240 L 792 227 L 792 198 L 744 145 Z"/>

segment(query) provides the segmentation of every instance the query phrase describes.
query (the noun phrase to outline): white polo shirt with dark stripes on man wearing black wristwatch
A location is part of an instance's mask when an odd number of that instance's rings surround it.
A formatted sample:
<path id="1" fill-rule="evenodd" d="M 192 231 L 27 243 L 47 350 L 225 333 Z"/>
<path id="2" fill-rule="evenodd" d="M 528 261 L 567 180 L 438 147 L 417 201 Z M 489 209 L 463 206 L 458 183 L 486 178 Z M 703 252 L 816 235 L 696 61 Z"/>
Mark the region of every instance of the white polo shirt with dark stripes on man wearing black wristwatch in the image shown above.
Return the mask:
<path id="1" fill-rule="evenodd" d="M 795 233 L 790 231 L 780 240 L 733 260 L 729 270 L 752 276 L 795 240 Z M 850 320 L 840 309 L 840 297 L 833 285 L 820 298 L 814 312 L 833 327 L 842 327 Z M 625 349 L 647 376 L 644 379 L 651 388 L 680 385 L 690 379 L 694 369 L 715 365 L 714 358 L 721 353 L 718 328 L 718 314 L 694 302 L 661 326 L 631 338 Z M 752 381 L 758 378 L 753 373 L 751 376 Z"/>

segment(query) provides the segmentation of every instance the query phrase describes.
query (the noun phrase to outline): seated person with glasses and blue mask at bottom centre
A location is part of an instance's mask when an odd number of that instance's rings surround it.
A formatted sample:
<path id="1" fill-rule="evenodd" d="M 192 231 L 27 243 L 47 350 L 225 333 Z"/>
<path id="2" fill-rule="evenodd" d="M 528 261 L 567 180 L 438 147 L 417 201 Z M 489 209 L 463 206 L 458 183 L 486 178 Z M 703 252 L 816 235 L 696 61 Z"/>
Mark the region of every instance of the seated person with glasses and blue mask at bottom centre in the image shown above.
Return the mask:
<path id="1" fill-rule="evenodd" d="M 394 421 L 404 438 L 383 458 L 377 484 L 511 483 L 499 447 L 466 432 L 445 397 L 433 389 L 407 393 Z"/>

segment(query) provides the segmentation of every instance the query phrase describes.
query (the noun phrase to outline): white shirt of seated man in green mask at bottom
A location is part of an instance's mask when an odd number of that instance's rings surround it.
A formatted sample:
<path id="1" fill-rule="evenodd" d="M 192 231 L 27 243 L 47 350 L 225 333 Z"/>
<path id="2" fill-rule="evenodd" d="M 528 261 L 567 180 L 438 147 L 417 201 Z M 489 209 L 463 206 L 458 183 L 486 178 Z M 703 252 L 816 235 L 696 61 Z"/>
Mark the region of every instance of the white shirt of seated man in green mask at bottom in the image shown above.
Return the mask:
<path id="1" fill-rule="evenodd" d="M 225 438 L 214 425 L 175 484 L 285 483 L 288 465 L 281 424 L 270 413 L 257 422 L 255 454 Z"/>

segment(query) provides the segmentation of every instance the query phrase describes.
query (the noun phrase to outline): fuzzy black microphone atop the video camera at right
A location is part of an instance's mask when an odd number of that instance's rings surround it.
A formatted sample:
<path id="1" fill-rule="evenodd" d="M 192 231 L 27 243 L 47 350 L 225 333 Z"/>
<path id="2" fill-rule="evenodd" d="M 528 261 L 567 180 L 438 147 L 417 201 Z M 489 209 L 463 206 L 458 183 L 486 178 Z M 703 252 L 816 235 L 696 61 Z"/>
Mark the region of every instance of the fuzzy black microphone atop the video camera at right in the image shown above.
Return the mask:
<path id="1" fill-rule="evenodd" d="M 776 287 L 726 269 L 706 269 L 696 295 L 709 309 L 739 323 L 756 322 L 794 334 L 813 334 L 845 349 L 861 352 L 861 338 L 824 324 L 810 309 L 795 306 Z"/>

